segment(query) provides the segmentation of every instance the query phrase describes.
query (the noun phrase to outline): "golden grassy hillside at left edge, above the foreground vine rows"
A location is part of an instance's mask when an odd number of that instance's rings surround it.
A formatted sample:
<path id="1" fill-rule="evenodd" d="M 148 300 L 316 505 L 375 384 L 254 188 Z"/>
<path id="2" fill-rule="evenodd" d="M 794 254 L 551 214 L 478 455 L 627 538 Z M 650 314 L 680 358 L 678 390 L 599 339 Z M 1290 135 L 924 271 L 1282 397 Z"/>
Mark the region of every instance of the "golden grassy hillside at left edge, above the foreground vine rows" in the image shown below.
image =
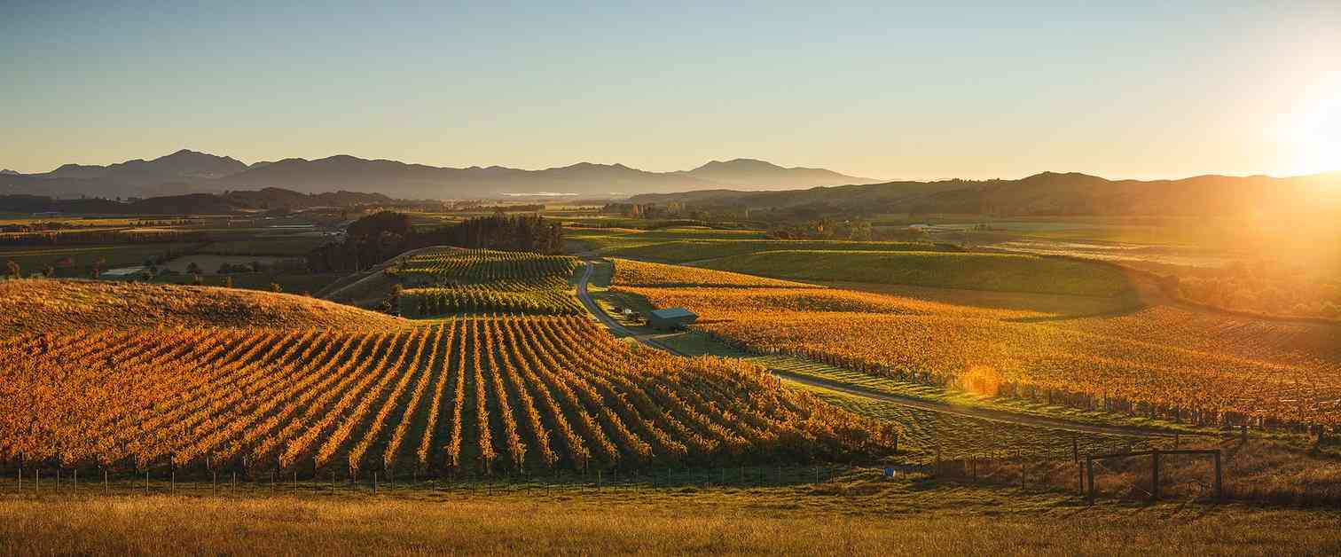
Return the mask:
<path id="1" fill-rule="evenodd" d="M 294 295 L 209 286 L 98 281 L 0 281 L 0 333 L 158 326 L 378 330 L 390 315 Z"/>

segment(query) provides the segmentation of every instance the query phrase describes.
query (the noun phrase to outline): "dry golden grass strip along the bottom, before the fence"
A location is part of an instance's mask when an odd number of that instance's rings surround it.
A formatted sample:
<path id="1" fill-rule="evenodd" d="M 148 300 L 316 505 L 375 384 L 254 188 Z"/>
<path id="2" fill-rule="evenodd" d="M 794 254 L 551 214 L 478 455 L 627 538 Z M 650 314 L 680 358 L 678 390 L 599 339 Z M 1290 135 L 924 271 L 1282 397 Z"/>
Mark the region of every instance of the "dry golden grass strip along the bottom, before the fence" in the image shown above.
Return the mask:
<path id="1" fill-rule="evenodd" d="M 929 480 L 775 489 L 9 495 L 4 554 L 1336 554 L 1334 511 Z"/>

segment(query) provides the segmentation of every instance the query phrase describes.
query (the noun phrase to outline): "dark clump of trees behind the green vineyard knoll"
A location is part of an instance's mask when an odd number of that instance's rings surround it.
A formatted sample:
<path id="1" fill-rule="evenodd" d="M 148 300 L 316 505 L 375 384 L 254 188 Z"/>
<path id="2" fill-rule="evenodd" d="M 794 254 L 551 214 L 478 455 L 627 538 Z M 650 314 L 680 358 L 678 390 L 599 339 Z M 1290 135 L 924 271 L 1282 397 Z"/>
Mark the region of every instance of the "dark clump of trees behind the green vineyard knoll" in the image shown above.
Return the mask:
<path id="1" fill-rule="evenodd" d="M 307 254 L 312 272 L 361 271 L 428 246 L 563 252 L 563 225 L 539 215 L 493 215 L 432 228 L 414 228 L 409 215 L 382 211 L 350 223 L 345 238 Z"/>

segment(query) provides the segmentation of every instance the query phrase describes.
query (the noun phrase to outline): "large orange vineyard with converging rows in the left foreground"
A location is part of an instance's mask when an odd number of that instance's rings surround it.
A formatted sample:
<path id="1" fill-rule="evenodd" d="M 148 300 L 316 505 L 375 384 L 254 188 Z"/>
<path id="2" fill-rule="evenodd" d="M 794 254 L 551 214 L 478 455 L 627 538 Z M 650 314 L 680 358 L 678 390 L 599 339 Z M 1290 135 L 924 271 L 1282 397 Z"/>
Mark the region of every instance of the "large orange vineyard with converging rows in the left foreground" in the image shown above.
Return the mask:
<path id="1" fill-rule="evenodd" d="M 0 340 L 11 463 L 469 475 L 873 460 L 893 443 L 751 364 L 638 349 L 571 317 Z"/>

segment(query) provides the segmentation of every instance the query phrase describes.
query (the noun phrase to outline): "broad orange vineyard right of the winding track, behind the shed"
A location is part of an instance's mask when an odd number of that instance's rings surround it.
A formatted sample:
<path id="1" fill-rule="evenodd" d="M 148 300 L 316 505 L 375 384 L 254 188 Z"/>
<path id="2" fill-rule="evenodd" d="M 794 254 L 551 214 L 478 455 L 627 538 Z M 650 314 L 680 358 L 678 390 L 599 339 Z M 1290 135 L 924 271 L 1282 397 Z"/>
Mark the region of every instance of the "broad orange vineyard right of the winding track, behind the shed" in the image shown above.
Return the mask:
<path id="1" fill-rule="evenodd" d="M 617 267 L 617 290 L 688 307 L 699 330 L 756 354 L 1176 423 L 1341 424 L 1341 333 L 1325 325 L 1167 306 L 1029 322 L 1026 311 L 842 289 L 622 286 L 653 282 L 638 275 Z"/>

